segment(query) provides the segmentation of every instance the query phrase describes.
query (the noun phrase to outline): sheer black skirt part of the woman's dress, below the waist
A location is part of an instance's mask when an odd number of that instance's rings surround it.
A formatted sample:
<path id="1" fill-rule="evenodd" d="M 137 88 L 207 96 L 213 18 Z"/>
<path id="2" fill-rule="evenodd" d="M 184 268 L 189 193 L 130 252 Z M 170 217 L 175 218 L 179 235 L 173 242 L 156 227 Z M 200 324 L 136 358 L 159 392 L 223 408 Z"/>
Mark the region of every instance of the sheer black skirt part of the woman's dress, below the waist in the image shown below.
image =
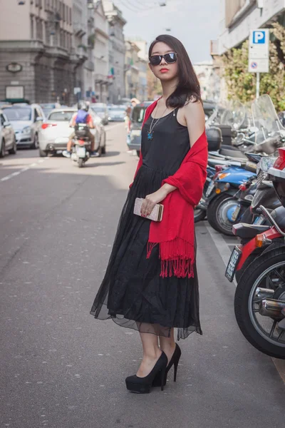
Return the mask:
<path id="1" fill-rule="evenodd" d="M 99 320 L 112 318 L 123 327 L 165 337 L 170 337 L 170 329 L 177 327 L 179 340 L 194 331 L 202 335 L 196 268 L 194 278 L 160 277 L 158 245 L 150 259 L 146 258 L 150 220 L 133 214 L 135 198 L 155 192 L 166 176 L 163 171 L 145 166 L 138 171 L 90 314 Z"/>

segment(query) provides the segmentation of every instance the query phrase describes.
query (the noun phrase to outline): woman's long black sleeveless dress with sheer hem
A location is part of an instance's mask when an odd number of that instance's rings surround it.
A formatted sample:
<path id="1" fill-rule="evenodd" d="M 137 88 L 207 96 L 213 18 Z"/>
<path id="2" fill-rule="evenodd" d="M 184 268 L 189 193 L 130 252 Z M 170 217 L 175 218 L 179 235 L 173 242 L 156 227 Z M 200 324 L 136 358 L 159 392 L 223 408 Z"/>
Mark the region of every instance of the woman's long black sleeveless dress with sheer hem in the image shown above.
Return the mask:
<path id="1" fill-rule="evenodd" d="M 120 216 L 113 250 L 90 314 L 112 318 L 118 325 L 177 339 L 196 331 L 199 322 L 199 288 L 195 277 L 160 277 L 158 245 L 147 259 L 150 220 L 133 214 L 135 198 L 145 198 L 173 175 L 190 150 L 186 126 L 177 121 L 177 109 L 160 118 L 147 139 L 152 116 L 142 128 L 142 166 L 138 170 Z M 174 213 L 175 215 L 175 213 Z"/>

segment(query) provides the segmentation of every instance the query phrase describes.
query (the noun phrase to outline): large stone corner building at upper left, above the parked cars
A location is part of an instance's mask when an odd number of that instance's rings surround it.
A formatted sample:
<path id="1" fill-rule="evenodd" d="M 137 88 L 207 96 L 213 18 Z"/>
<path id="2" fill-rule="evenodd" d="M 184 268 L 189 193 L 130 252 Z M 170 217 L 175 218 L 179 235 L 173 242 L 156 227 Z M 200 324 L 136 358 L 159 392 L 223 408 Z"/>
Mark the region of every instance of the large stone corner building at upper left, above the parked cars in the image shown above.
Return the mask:
<path id="1" fill-rule="evenodd" d="M 72 7 L 72 0 L 1 3 L 1 100 L 73 102 L 81 58 L 72 49 Z"/>

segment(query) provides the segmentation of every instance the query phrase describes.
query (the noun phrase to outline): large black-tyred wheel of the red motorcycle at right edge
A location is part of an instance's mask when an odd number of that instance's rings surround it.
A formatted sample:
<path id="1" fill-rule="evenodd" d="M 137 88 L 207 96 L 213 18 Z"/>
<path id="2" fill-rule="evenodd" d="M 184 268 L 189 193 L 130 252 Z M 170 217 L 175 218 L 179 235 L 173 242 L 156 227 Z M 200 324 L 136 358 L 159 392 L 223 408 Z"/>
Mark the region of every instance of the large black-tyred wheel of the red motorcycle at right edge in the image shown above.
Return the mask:
<path id="1" fill-rule="evenodd" d="M 277 320 L 259 313 L 257 287 L 274 290 L 271 298 L 285 302 L 285 248 L 256 258 L 244 270 L 234 296 L 234 312 L 244 337 L 264 354 L 285 360 L 285 331 L 279 329 Z"/>

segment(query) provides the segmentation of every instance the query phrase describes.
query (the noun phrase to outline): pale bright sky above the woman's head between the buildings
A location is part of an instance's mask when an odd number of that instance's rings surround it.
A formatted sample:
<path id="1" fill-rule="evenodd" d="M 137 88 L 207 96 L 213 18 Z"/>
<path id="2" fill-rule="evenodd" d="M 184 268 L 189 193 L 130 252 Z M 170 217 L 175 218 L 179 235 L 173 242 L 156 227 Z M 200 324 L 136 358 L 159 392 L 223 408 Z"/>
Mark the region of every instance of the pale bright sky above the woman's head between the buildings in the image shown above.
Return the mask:
<path id="1" fill-rule="evenodd" d="M 210 40 L 219 36 L 220 0 L 113 0 L 128 21 L 126 39 L 140 37 L 148 44 L 159 34 L 180 39 L 192 63 L 207 61 Z M 166 31 L 171 29 L 171 31 Z"/>

